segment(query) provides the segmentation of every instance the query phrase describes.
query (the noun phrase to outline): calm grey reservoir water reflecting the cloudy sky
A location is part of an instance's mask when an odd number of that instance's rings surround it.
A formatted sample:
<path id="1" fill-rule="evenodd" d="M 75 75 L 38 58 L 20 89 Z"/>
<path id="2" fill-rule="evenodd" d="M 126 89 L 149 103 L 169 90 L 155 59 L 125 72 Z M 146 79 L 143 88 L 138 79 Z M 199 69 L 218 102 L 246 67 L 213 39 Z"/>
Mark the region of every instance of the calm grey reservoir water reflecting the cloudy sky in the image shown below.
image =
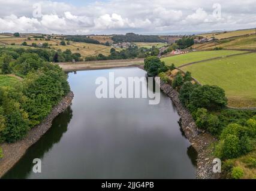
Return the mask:
<path id="1" fill-rule="evenodd" d="M 197 154 L 179 115 L 161 93 L 147 98 L 95 96 L 98 76 L 144 76 L 137 67 L 69 73 L 73 103 L 4 178 L 195 178 Z M 40 158 L 42 172 L 32 171 Z"/>

